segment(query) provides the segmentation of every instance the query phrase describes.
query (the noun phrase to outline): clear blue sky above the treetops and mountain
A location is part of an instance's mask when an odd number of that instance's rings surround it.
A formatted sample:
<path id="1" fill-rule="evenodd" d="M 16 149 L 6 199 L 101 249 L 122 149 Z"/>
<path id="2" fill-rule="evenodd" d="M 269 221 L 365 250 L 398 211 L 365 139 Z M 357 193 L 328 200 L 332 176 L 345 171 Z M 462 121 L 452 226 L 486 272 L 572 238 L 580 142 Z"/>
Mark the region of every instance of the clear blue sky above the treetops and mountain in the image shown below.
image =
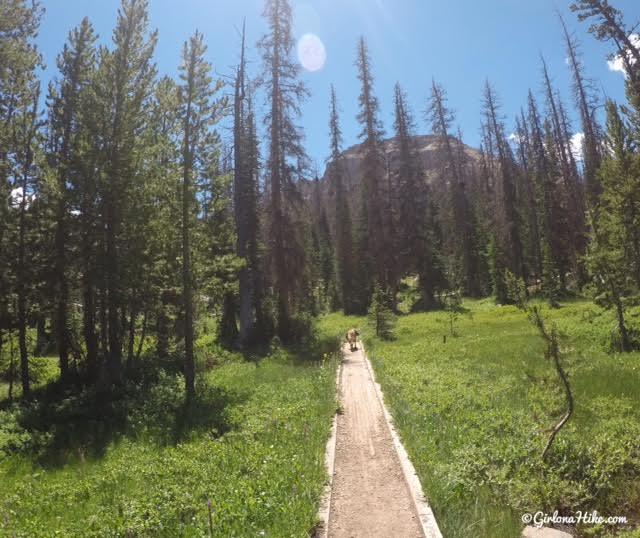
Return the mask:
<path id="1" fill-rule="evenodd" d="M 38 43 L 47 63 L 45 78 L 55 74 L 55 57 L 68 31 L 87 15 L 109 43 L 119 0 L 42 0 L 46 9 Z M 263 0 L 150 0 L 151 24 L 159 30 L 156 52 L 162 74 L 175 74 L 182 43 L 195 29 L 205 34 L 209 59 L 219 75 L 230 75 L 238 58 L 238 28 L 246 17 L 251 70 L 259 68 L 253 46 L 265 30 Z M 540 53 L 565 100 L 570 80 L 565 64 L 560 10 L 581 41 L 588 75 L 614 99 L 624 99 L 623 77 L 611 71 L 606 46 L 587 34 L 569 11 L 569 0 L 292 0 L 295 34 L 316 34 L 326 48 L 326 64 L 305 72 L 311 97 L 300 120 L 309 155 L 322 172 L 328 153 L 329 85 L 340 101 L 345 146 L 357 142 L 358 80 L 354 67 L 357 39 L 370 47 L 381 119 L 392 131 L 393 86 L 408 93 L 418 131 L 428 132 L 424 110 L 432 77 L 446 88 L 465 141 L 479 144 L 482 87 L 495 86 L 508 128 L 525 103 L 527 91 L 540 92 Z M 615 0 L 629 26 L 640 16 L 637 0 Z M 261 104 L 261 103 L 259 103 Z M 575 125 L 575 130 L 578 125 Z M 223 132 L 223 136 L 229 136 Z"/>

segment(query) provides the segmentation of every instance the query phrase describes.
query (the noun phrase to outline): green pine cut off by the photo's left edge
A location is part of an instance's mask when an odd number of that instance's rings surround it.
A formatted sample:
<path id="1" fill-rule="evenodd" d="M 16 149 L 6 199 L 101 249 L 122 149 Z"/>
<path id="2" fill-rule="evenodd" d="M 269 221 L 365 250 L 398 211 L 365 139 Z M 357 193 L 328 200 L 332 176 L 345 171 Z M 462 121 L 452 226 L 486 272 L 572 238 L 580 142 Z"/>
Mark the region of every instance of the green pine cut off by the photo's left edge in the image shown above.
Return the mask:
<path id="1" fill-rule="evenodd" d="M 30 394 L 27 324 L 30 281 L 27 259 L 33 215 L 39 82 L 42 59 L 34 40 L 42 18 L 39 2 L 0 0 L 0 342 L 18 328 L 23 394 Z M 2 344 L 0 343 L 0 346 Z"/>

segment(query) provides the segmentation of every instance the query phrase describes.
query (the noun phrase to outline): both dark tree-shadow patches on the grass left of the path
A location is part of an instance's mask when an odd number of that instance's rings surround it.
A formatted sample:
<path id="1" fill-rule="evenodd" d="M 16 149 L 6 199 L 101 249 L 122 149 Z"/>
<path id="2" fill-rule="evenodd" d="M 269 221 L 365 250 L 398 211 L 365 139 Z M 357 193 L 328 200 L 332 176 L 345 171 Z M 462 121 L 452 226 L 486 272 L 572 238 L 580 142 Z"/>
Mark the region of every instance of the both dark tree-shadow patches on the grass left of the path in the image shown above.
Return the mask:
<path id="1" fill-rule="evenodd" d="M 254 347 L 245 359 L 259 364 L 281 350 L 287 360 L 311 366 L 339 349 L 338 338 L 312 330 L 296 344 L 274 340 Z M 19 453 L 55 468 L 100 459 L 120 440 L 171 446 L 202 436 L 217 438 L 233 427 L 229 410 L 249 397 L 204 381 L 217 365 L 200 364 L 196 398 L 188 403 L 180 361 L 158 359 L 133 365 L 124 376 L 127 381 L 109 390 L 83 386 L 80 379 L 67 385 L 55 381 L 34 390 L 29 401 L 0 402 L 0 433 L 10 427 L 13 436 L 0 435 L 0 457 Z"/>

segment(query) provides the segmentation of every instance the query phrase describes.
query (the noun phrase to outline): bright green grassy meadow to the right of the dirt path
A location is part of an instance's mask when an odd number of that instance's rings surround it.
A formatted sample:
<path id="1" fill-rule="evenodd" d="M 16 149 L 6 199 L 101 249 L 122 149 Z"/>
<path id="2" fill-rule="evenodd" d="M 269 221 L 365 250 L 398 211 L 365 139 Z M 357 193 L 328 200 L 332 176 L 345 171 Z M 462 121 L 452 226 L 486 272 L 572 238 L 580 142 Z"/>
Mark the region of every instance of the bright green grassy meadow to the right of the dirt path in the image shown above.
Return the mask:
<path id="1" fill-rule="evenodd" d="M 544 343 L 526 315 L 490 300 L 449 332 L 443 312 L 399 319 L 397 339 L 368 353 L 446 538 L 515 538 L 521 516 L 598 510 L 640 523 L 640 353 L 609 354 L 613 320 L 588 302 L 546 309 L 562 335 L 575 414 L 541 452 L 564 410 Z M 637 323 L 637 316 L 632 320 Z M 326 334 L 361 318 L 330 315 Z M 365 335 L 366 337 L 366 335 Z M 593 525 L 581 536 L 640 536 Z"/>

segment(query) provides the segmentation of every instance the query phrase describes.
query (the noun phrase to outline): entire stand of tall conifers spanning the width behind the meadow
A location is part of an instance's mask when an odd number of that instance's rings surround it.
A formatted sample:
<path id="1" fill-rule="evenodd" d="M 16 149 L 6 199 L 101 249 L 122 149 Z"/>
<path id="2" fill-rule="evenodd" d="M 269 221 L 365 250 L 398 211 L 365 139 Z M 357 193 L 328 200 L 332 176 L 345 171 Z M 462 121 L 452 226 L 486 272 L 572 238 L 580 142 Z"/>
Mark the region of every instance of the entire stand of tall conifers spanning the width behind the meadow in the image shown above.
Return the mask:
<path id="1" fill-rule="evenodd" d="M 625 311 L 640 289 L 640 50 L 606 0 L 572 6 L 624 65 L 627 103 L 604 102 L 604 125 L 561 20 L 580 154 L 541 59 L 543 92 L 529 92 L 512 134 L 486 83 L 475 157 L 440 84 L 420 121 L 397 84 L 390 166 L 361 38 L 355 201 L 333 87 L 326 181 L 311 177 L 289 0 L 265 3 L 253 75 L 243 28 L 226 85 L 199 32 L 183 46 L 178 77 L 159 77 L 148 7 L 122 0 L 110 46 L 97 45 L 84 19 L 44 91 L 35 46 L 43 9 L 0 0 L 0 352 L 17 338 L 25 395 L 32 332 L 40 347 L 49 333 L 63 383 L 118 385 L 152 349 L 182 362 L 191 398 L 205 317 L 226 346 L 295 342 L 310 336 L 313 316 L 364 314 L 374 295 L 396 310 L 408 278 L 415 310 L 442 306 L 447 293 L 506 304 L 513 279 L 551 304 L 591 289 L 616 314 L 619 347 L 635 345 Z M 221 121 L 232 125 L 229 143 Z M 418 123 L 437 142 L 435 170 L 421 160 Z"/>

